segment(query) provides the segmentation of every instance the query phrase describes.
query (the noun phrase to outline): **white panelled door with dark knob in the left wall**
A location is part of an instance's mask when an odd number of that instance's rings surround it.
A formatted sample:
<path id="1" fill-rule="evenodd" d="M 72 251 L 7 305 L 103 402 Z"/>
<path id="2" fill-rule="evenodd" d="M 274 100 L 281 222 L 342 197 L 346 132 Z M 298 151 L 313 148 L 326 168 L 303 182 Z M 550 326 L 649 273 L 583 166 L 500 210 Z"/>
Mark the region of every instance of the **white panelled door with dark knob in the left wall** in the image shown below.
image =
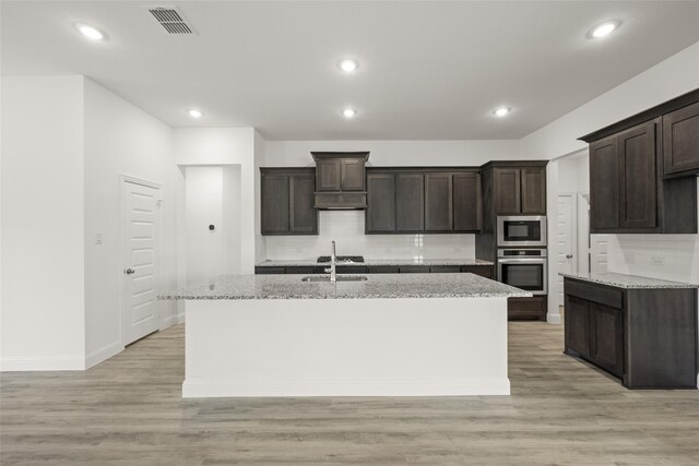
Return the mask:
<path id="1" fill-rule="evenodd" d="M 130 180 L 122 182 L 123 344 L 161 326 L 158 289 L 158 189 Z"/>

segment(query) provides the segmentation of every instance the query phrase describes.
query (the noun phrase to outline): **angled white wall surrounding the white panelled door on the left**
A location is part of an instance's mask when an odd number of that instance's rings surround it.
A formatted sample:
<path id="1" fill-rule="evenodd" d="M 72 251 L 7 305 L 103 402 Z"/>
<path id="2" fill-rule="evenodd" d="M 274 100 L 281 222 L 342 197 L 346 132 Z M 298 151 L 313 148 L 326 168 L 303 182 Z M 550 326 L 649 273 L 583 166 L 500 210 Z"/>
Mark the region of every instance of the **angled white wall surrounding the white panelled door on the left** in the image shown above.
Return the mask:
<path id="1" fill-rule="evenodd" d="M 127 175 L 162 186 L 162 289 L 177 287 L 173 130 L 91 80 L 85 80 L 85 349 L 87 366 L 123 348 L 119 307 L 129 264 L 121 258 L 121 183 Z M 100 232 L 103 243 L 95 243 Z M 158 301 L 163 326 L 176 320 L 173 301 Z"/>

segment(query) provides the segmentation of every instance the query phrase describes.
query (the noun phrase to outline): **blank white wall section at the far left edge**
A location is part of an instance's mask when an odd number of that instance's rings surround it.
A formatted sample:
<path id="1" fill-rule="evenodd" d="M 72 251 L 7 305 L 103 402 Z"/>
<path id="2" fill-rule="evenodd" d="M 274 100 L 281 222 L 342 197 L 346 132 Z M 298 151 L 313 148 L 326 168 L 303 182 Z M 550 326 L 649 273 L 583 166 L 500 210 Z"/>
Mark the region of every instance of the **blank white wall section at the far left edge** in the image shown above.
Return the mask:
<path id="1" fill-rule="evenodd" d="M 82 76 L 2 77 L 2 370 L 83 369 Z"/>

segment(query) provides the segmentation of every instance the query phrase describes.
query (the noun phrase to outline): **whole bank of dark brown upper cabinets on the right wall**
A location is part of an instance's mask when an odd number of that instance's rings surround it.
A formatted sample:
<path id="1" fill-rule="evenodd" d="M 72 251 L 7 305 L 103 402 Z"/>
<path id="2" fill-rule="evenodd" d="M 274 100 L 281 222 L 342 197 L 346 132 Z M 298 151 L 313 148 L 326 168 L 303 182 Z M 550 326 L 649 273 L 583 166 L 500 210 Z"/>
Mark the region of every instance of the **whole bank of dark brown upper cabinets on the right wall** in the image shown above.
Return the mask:
<path id="1" fill-rule="evenodd" d="M 593 234 L 697 232 L 697 178 L 685 176 L 699 152 L 697 100 L 699 89 L 580 138 L 590 143 Z"/>

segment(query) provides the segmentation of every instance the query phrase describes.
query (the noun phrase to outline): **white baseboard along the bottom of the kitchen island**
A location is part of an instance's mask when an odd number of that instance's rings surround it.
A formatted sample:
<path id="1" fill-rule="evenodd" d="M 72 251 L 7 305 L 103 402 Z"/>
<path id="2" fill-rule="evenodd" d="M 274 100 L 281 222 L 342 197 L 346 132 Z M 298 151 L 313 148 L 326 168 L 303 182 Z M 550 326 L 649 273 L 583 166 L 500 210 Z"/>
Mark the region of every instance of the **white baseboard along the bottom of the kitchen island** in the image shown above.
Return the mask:
<path id="1" fill-rule="evenodd" d="M 475 396 L 509 395 L 509 379 L 443 382 L 239 383 L 186 380 L 183 398 L 249 396 Z"/>

